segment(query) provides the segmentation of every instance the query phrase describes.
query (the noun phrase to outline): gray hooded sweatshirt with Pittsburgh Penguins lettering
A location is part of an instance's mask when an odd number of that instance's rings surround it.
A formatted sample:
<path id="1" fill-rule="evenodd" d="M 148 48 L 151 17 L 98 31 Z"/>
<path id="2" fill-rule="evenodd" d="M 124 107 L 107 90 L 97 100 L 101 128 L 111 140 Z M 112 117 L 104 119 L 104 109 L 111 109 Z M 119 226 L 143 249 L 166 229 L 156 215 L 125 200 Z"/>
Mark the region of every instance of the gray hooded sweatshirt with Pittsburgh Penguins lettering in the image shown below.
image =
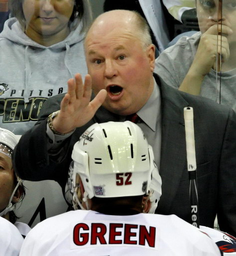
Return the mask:
<path id="1" fill-rule="evenodd" d="M 43 102 L 67 91 L 67 80 L 87 73 L 81 24 L 63 40 L 43 46 L 16 18 L 0 33 L 0 127 L 22 134 L 38 119 Z"/>

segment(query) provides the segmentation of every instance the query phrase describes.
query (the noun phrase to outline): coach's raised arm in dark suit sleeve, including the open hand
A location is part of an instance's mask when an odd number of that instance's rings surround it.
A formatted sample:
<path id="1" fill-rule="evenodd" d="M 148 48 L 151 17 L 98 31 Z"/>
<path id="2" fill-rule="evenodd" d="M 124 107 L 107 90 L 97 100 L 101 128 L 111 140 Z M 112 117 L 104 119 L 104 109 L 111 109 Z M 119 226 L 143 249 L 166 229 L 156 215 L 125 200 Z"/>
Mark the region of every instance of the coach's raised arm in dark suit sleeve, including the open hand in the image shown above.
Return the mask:
<path id="1" fill-rule="evenodd" d="M 61 143 L 61 147 L 57 148 L 60 151 L 63 147 L 63 155 L 56 155 L 55 151 L 50 154 L 52 148 L 48 149 L 47 118 L 51 112 L 58 110 L 60 104 L 60 113 L 56 116 L 58 119 L 55 124 L 53 123 L 55 129 L 60 133 L 67 133 L 82 126 L 92 119 L 104 101 L 106 91 L 101 90 L 92 101 L 90 97 L 90 76 L 86 75 L 83 85 L 80 74 L 76 74 L 75 79 L 68 80 L 68 92 L 61 103 L 56 101 L 58 97 L 54 99 L 51 97 L 44 102 L 39 120 L 21 136 L 14 150 L 14 169 L 22 179 L 33 181 L 52 179 L 58 181 L 63 187 L 71 161 L 74 140 L 71 142 L 72 136 L 69 136 Z M 75 138 L 78 139 L 79 132 L 74 133 Z"/>

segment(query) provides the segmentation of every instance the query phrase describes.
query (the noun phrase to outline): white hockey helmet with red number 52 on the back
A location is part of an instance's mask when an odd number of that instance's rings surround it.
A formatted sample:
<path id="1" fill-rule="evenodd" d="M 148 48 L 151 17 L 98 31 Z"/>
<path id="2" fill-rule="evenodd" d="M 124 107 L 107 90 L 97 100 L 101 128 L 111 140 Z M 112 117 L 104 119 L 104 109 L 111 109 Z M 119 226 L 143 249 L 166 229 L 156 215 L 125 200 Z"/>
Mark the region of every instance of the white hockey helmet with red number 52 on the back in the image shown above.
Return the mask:
<path id="1" fill-rule="evenodd" d="M 79 174 L 85 190 L 85 202 L 86 197 L 93 196 L 122 197 L 150 193 L 152 208 L 156 208 L 161 196 L 161 177 L 152 147 L 135 123 L 93 124 L 75 143 L 72 159 L 72 192 Z M 151 185 L 152 178 L 154 182 Z"/>

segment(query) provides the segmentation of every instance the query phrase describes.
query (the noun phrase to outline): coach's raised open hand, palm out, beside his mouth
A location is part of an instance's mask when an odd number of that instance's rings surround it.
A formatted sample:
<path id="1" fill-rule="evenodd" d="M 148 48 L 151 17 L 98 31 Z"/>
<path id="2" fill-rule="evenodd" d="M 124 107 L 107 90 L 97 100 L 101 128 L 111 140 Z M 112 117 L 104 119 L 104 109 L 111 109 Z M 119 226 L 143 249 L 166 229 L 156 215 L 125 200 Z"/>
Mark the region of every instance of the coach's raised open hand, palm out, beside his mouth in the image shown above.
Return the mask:
<path id="1" fill-rule="evenodd" d="M 102 89 L 90 101 L 92 87 L 91 76 L 85 75 L 84 84 L 79 73 L 67 82 L 68 91 L 61 100 L 60 112 L 53 119 L 53 126 L 60 133 L 67 133 L 86 124 L 106 98 L 107 91 Z"/>

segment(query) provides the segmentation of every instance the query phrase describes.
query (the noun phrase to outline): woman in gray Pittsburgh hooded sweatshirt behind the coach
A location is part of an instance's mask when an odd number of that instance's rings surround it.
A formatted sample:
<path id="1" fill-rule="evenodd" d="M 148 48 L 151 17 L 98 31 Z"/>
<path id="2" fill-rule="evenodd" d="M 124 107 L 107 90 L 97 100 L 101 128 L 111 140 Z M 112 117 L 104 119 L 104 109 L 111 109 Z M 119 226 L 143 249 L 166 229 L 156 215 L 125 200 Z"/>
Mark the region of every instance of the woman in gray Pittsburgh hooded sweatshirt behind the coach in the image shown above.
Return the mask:
<path id="1" fill-rule="evenodd" d="M 88 0 L 9 0 L 13 18 L 0 33 L 0 126 L 22 134 L 43 102 L 87 73 L 84 31 Z"/>

